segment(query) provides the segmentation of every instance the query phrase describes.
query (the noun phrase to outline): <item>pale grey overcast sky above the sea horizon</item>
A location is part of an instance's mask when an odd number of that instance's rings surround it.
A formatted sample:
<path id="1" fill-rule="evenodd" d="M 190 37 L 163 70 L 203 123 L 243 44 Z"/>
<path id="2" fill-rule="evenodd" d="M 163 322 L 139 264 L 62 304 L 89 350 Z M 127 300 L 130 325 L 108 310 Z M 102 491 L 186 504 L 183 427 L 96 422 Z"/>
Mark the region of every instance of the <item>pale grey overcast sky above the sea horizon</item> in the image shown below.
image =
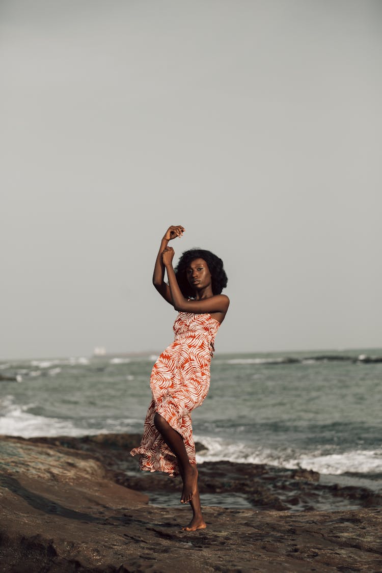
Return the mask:
<path id="1" fill-rule="evenodd" d="M 216 352 L 380 348 L 382 3 L 3 0 L 0 359 L 161 351 L 160 240 Z"/>

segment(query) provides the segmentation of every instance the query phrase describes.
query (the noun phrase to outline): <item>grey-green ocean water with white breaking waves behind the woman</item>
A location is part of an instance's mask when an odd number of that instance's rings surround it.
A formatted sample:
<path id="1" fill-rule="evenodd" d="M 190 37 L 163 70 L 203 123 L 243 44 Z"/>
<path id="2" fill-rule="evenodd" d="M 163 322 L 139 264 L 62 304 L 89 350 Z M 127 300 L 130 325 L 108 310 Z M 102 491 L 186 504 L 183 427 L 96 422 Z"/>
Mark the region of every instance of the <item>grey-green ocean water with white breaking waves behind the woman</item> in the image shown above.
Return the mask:
<path id="1" fill-rule="evenodd" d="M 382 478 L 382 350 L 216 354 L 192 415 L 205 460 Z M 0 434 L 141 433 L 157 356 L 0 362 Z M 368 360 L 372 358 L 372 360 Z"/>

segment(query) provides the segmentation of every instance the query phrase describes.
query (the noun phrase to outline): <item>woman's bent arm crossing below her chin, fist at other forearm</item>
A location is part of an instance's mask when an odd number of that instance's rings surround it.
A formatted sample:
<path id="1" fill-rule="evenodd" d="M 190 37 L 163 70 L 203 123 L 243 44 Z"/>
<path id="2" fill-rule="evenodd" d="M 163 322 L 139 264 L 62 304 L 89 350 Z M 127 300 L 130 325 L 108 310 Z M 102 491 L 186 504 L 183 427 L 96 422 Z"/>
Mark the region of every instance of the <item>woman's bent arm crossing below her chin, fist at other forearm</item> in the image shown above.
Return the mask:
<path id="1" fill-rule="evenodd" d="M 170 286 L 172 304 L 176 311 L 195 312 L 196 314 L 222 312 L 224 315 L 230 304 L 230 299 L 226 295 L 215 295 L 209 299 L 188 300 L 185 299 L 176 280 L 172 258 L 174 249 L 167 247 L 163 252 L 163 264 L 166 268 L 168 286 Z"/>

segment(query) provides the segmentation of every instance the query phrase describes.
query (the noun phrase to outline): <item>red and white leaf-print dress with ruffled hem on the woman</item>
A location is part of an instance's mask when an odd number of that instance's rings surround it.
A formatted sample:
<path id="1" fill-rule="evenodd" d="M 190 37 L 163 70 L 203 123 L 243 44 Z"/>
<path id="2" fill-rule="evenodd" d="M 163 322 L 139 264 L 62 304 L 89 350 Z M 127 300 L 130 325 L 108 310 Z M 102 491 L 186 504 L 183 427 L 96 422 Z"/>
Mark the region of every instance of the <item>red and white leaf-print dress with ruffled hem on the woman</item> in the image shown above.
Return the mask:
<path id="1" fill-rule="evenodd" d="M 209 314 L 180 312 L 174 323 L 175 340 L 157 359 L 150 377 L 152 401 L 144 422 L 139 448 L 140 469 L 179 473 L 178 461 L 157 431 L 157 412 L 183 437 L 191 464 L 196 464 L 191 411 L 203 403 L 210 387 L 210 363 L 220 323 Z"/>

